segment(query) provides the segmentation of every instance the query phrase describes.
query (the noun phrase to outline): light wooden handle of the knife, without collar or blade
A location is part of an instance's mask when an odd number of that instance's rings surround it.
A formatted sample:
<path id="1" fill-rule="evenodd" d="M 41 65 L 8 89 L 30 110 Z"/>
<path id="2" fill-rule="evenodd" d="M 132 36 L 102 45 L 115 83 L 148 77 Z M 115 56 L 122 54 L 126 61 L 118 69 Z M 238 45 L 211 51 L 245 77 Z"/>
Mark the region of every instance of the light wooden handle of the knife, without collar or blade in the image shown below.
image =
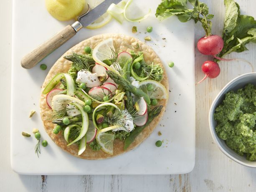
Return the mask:
<path id="1" fill-rule="evenodd" d="M 39 45 L 37 48 L 35 48 L 35 50 L 23 57 L 20 62 L 21 66 L 26 69 L 34 67 L 43 58 L 48 56 L 56 48 L 59 48 L 74 35 L 76 35 L 76 31 L 74 30 L 74 28 L 71 25 L 66 26 L 51 39 Z"/>

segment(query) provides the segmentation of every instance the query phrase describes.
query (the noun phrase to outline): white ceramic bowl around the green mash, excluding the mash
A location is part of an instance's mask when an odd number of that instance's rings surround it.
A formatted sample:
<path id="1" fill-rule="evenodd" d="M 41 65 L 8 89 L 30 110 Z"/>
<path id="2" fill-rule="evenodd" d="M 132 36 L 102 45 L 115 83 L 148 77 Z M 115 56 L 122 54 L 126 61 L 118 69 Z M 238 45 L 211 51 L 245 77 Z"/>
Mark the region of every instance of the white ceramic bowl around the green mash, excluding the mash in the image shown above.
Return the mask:
<path id="1" fill-rule="evenodd" d="M 214 99 L 209 112 L 209 125 L 210 125 L 210 132 L 213 136 L 213 140 L 218 145 L 218 147 L 221 149 L 221 151 L 226 154 L 229 158 L 233 159 L 235 162 L 238 162 L 244 166 L 247 167 L 253 167 L 256 168 L 256 161 L 250 162 L 245 157 L 238 155 L 236 152 L 234 152 L 232 149 L 230 149 L 225 141 L 220 139 L 218 135 L 215 132 L 215 126 L 216 121 L 213 118 L 213 114 L 215 112 L 216 107 L 221 104 L 223 99 L 225 98 L 225 94 L 228 91 L 236 91 L 239 88 L 243 88 L 246 84 L 252 83 L 254 86 L 256 86 L 256 73 L 246 73 L 241 76 L 238 76 L 237 78 L 234 78 L 232 81 L 230 81 L 222 90 L 221 92 L 216 96 Z"/>

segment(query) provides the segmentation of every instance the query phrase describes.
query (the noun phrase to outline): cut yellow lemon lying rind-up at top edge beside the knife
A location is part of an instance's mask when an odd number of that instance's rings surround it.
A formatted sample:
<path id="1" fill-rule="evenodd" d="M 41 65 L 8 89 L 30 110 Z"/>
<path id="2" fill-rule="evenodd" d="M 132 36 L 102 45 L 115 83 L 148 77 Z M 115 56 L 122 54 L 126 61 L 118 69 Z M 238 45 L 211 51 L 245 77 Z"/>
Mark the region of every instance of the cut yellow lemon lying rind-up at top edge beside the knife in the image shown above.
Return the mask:
<path id="1" fill-rule="evenodd" d="M 46 9 L 57 20 L 76 18 L 84 8 L 84 0 L 46 0 Z"/>

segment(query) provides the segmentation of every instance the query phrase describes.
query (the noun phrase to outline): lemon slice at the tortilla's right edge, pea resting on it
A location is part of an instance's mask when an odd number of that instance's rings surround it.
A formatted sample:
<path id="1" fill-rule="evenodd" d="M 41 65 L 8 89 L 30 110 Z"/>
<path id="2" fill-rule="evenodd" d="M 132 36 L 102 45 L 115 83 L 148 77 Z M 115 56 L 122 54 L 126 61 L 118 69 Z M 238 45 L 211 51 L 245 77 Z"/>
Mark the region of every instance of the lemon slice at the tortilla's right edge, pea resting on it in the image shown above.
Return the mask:
<path id="1" fill-rule="evenodd" d="M 152 84 L 152 91 L 147 90 L 147 85 Z M 161 83 L 153 80 L 145 80 L 139 82 L 139 88 L 150 96 L 150 99 L 168 99 L 168 92 Z"/>

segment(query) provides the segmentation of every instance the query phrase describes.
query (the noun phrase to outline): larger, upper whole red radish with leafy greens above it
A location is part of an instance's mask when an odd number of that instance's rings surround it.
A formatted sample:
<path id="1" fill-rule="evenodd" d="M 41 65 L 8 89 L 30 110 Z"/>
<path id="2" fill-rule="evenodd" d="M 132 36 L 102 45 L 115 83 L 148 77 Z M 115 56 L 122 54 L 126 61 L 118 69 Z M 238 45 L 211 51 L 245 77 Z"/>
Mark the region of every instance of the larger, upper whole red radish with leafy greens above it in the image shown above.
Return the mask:
<path id="1" fill-rule="evenodd" d="M 210 35 L 198 40 L 198 51 L 204 55 L 217 55 L 223 49 L 224 42 L 219 35 Z"/>

